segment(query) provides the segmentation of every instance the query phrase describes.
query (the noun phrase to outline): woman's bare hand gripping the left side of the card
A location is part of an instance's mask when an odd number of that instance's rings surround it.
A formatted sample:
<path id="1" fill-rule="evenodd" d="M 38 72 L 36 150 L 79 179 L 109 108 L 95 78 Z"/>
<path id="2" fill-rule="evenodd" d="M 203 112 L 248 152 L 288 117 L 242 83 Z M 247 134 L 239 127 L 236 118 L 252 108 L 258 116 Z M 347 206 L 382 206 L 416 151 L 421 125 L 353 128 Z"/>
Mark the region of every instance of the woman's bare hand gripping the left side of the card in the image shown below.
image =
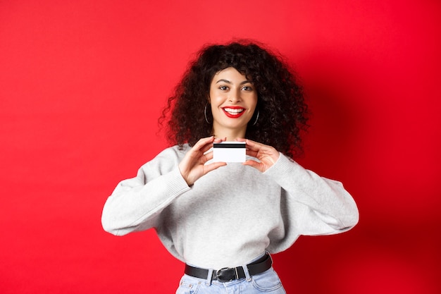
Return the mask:
<path id="1" fill-rule="evenodd" d="M 179 164 L 179 171 L 189 186 L 193 185 L 197 179 L 206 175 L 210 171 L 227 165 L 225 162 L 213 162 L 205 165 L 206 161 L 213 159 L 213 152 L 208 152 L 213 147 L 213 142 L 222 142 L 225 139 L 215 139 L 213 136 L 203 138 L 185 154 L 184 159 Z"/>

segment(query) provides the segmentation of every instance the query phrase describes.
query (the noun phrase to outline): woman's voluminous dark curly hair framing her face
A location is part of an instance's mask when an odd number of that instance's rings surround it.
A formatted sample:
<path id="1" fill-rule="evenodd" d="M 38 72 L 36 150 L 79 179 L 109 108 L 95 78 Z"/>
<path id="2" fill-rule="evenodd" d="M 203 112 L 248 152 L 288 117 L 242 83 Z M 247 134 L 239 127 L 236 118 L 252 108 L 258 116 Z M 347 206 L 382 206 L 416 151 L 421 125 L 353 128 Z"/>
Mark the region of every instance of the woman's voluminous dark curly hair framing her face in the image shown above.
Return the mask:
<path id="1" fill-rule="evenodd" d="M 159 119 L 161 126 L 168 123 L 170 143 L 193 146 L 201 137 L 213 135 L 204 114 L 206 108 L 212 121 L 211 108 L 206 107 L 210 84 L 216 73 L 230 67 L 251 80 L 257 92 L 259 118 L 253 125 L 255 111 L 247 126 L 247 139 L 271 145 L 292 159 L 298 156 L 308 119 L 302 87 L 280 54 L 247 40 L 206 45 L 190 63 Z"/>

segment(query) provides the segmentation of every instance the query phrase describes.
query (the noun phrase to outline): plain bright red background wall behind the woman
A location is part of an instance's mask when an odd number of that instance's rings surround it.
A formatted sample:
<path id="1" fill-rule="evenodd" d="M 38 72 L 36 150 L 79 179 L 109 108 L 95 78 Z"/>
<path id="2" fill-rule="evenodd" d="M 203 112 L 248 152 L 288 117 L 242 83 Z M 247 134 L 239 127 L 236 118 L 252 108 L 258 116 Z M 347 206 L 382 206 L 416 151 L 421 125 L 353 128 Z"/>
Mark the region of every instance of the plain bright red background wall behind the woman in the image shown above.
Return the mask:
<path id="1" fill-rule="evenodd" d="M 0 1 L 0 293 L 174 293 L 154 231 L 101 209 L 166 147 L 157 118 L 206 42 L 285 55 L 313 111 L 306 168 L 341 180 L 356 228 L 274 256 L 287 293 L 441 293 L 441 4 Z"/>

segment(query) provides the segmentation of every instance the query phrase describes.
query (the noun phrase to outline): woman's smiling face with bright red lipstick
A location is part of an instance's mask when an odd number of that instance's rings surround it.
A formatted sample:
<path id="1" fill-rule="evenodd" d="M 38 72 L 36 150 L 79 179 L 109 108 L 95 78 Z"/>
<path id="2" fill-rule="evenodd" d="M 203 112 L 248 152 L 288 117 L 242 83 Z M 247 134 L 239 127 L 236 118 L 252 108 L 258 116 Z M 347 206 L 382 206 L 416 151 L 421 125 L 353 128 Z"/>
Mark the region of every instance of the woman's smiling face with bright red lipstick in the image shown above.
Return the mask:
<path id="1" fill-rule="evenodd" d="M 235 68 L 225 68 L 211 80 L 210 103 L 214 133 L 228 129 L 244 135 L 256 109 L 257 92 L 247 77 Z"/>

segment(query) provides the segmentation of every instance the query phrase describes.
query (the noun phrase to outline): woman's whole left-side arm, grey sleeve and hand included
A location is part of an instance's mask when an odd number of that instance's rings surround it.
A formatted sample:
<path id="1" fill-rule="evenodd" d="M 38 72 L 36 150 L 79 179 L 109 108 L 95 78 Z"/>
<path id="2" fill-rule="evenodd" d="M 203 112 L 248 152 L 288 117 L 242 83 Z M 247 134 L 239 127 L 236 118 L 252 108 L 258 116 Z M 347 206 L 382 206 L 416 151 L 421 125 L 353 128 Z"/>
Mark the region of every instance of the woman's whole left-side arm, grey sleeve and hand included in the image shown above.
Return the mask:
<path id="1" fill-rule="evenodd" d="M 187 152 L 169 148 L 139 169 L 135 178 L 121 181 L 104 204 L 101 223 L 104 231 L 125 235 L 156 227 L 159 215 L 168 205 L 190 190 L 194 181 L 225 166 L 213 158 L 214 137 L 199 140 Z M 185 153 L 185 156 L 184 156 Z"/>

